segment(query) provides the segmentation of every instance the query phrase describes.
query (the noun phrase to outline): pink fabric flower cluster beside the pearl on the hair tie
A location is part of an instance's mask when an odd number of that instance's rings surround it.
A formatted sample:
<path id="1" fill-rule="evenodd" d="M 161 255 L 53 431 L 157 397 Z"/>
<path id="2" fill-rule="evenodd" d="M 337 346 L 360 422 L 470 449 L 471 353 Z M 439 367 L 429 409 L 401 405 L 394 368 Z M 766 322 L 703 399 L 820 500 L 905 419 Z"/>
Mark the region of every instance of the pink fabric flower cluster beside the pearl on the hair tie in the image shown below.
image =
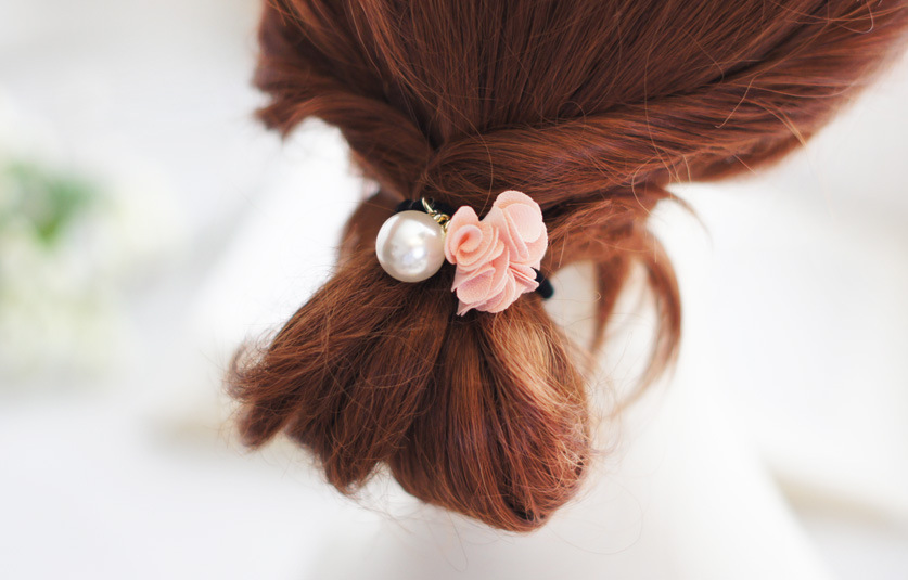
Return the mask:
<path id="1" fill-rule="evenodd" d="M 457 266 L 457 313 L 501 312 L 535 291 L 548 243 L 539 204 L 519 191 L 500 193 L 482 220 L 471 207 L 458 209 L 445 239 L 445 257 Z"/>

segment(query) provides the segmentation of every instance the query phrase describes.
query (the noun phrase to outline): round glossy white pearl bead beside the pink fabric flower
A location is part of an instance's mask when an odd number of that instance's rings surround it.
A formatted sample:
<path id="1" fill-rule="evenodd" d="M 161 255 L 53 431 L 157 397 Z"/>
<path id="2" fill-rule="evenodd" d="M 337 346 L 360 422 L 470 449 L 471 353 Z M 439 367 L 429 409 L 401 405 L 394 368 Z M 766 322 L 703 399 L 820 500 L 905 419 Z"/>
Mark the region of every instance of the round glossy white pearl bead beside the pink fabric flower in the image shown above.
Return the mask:
<path id="1" fill-rule="evenodd" d="M 429 214 L 400 211 L 379 230 L 375 254 L 392 278 L 422 282 L 445 262 L 445 231 Z"/>

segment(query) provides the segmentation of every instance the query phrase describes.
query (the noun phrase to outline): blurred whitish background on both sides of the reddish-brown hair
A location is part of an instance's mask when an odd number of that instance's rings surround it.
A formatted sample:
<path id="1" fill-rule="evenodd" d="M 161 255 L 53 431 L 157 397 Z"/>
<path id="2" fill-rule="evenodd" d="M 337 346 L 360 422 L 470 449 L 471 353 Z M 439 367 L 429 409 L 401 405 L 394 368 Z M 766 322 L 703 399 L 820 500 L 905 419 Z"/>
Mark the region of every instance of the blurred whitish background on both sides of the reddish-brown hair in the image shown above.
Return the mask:
<path id="1" fill-rule="evenodd" d="M 334 131 L 252 119 L 256 16 L 0 0 L 0 578 L 304 578 L 360 517 L 240 450 L 221 394 L 363 188 Z M 682 364 L 841 578 L 908 578 L 906 102 L 901 63 L 777 170 L 678 188 L 703 224 L 654 224 Z"/>

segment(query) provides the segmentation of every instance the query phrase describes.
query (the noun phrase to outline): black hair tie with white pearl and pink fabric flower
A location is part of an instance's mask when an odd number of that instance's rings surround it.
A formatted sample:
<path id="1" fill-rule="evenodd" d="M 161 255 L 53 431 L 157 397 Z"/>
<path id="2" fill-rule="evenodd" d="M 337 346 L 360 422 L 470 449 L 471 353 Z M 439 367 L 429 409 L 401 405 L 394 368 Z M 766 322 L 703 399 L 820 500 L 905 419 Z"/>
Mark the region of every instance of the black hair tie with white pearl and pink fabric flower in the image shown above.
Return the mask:
<path id="1" fill-rule="evenodd" d="M 501 312 L 522 294 L 553 294 L 539 271 L 549 244 L 542 209 L 528 195 L 506 191 L 481 220 L 470 206 L 453 215 L 425 198 L 402 202 L 375 239 L 379 263 L 401 282 L 422 282 L 447 260 L 455 265 L 451 291 L 457 313 Z"/>

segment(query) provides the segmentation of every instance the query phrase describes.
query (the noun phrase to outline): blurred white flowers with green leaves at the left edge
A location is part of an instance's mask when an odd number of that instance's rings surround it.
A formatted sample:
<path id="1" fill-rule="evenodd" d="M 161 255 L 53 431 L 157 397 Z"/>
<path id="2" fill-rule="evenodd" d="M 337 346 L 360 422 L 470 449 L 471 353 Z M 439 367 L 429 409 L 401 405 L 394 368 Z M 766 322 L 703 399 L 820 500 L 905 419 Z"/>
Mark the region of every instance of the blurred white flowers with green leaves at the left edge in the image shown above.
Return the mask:
<path id="1" fill-rule="evenodd" d="M 0 99 L 0 390 L 97 384 L 130 339 L 132 283 L 180 244 L 172 196 L 136 164 L 68 169 L 11 109 Z"/>

